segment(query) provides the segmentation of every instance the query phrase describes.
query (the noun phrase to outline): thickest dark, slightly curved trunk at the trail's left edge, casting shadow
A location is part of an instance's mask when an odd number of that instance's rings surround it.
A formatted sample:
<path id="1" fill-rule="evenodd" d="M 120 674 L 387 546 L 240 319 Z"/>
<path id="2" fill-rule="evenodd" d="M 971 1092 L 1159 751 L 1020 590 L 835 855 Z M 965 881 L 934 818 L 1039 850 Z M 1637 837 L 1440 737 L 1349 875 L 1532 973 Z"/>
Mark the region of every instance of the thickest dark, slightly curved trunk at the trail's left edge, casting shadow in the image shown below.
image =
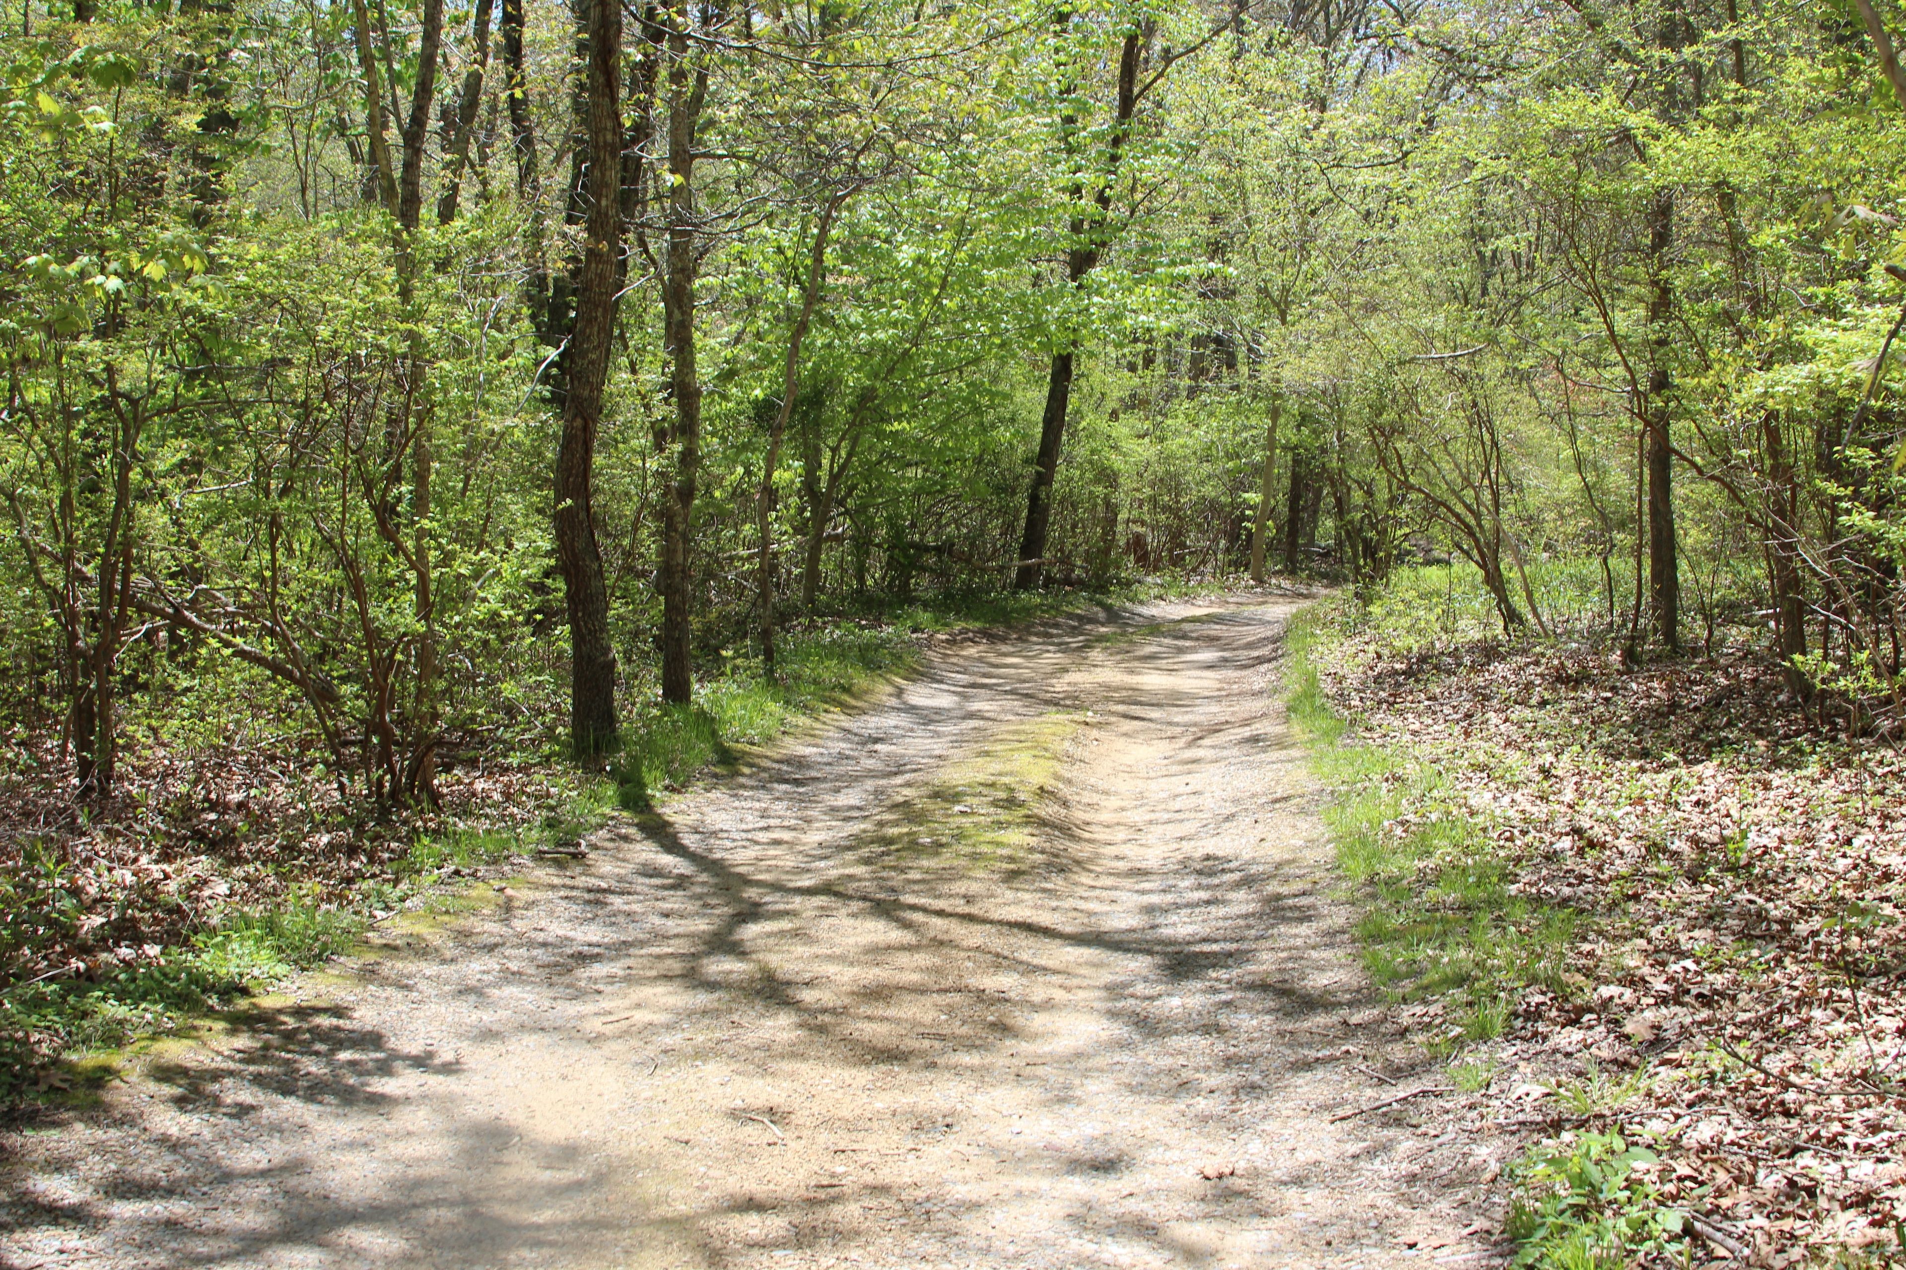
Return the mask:
<path id="1" fill-rule="evenodd" d="M 555 533 L 570 619 L 570 744 L 576 758 L 591 760 L 612 752 L 619 741 L 616 649 L 608 630 L 608 586 L 595 535 L 593 491 L 621 248 L 621 6 L 616 0 L 581 0 L 579 8 L 589 44 L 589 223 L 568 345 Z"/>

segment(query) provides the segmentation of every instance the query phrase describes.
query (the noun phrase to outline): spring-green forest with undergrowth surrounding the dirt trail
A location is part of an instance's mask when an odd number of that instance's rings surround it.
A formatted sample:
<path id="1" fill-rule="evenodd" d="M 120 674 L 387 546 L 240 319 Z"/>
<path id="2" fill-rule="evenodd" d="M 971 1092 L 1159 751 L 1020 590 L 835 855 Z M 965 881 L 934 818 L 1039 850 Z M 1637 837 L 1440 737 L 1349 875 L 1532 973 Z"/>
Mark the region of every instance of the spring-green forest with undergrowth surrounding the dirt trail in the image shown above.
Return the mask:
<path id="1" fill-rule="evenodd" d="M 8 1099 L 961 632 L 1296 588 L 1365 963 L 1464 1097 L 1471 1043 L 1612 1038 L 1517 1121 L 1561 1142 L 1504 1173 L 1519 1264 L 1906 1247 L 1896 0 L 0 29 Z M 1666 952 L 1582 979 L 1616 901 Z M 1605 1068 L 1666 1024 L 1611 1002 L 1748 943 L 1719 992 L 1773 1003 L 1698 1080 L 1839 1137 L 1670 1108 L 1620 1182 Z M 1845 1053 L 1784 1066 L 1807 1017 Z"/>

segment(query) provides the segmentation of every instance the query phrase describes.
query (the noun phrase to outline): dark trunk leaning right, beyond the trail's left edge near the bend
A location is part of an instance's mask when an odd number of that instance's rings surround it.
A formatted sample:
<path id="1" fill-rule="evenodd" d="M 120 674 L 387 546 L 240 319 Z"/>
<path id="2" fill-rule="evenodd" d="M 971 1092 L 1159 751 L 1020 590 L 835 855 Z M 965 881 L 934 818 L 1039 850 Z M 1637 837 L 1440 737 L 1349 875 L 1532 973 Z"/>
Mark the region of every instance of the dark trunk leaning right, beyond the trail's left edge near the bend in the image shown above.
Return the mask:
<path id="1" fill-rule="evenodd" d="M 1071 21 L 1069 13 L 1064 17 Z M 1111 211 L 1111 183 L 1119 175 L 1119 160 L 1125 156 L 1126 133 L 1132 126 L 1132 110 L 1138 109 L 1138 61 L 1144 51 L 1144 30 L 1134 27 L 1125 36 L 1119 51 L 1119 103 L 1111 120 L 1111 141 L 1107 145 L 1105 169 L 1098 175 L 1098 189 L 1086 198 L 1083 183 L 1073 183 L 1073 217 L 1069 228 L 1071 248 L 1065 251 L 1065 286 L 1077 291 L 1085 276 L 1098 265 L 1105 248 L 1105 213 Z M 1071 93 L 1067 93 L 1071 95 Z M 1079 116 L 1065 112 L 1060 116 L 1060 133 L 1067 154 L 1077 149 Z M 1033 463 L 1033 484 L 1025 493 L 1025 533 L 1020 537 L 1020 566 L 1012 575 L 1014 590 L 1039 586 L 1039 560 L 1046 554 L 1046 529 L 1052 524 L 1052 482 L 1060 470 L 1060 449 L 1065 442 L 1065 411 L 1071 404 L 1073 348 L 1069 333 L 1064 347 L 1052 354 L 1052 367 L 1046 373 L 1046 409 L 1039 419 L 1039 457 Z"/>

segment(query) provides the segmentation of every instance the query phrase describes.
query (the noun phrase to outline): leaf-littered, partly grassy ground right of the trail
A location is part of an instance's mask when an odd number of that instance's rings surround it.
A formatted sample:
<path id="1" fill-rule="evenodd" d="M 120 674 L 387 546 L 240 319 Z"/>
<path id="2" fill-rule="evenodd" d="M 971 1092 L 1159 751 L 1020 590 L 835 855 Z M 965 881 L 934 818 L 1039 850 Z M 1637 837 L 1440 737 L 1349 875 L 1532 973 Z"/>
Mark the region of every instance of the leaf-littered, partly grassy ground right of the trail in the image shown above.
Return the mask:
<path id="1" fill-rule="evenodd" d="M 1616 1236 L 1622 1264 L 1906 1264 L 1898 741 L 1752 644 L 1624 670 L 1426 642 L 1424 607 L 1308 613 L 1292 712 L 1344 737 L 1319 762 L 1365 963 L 1548 1141 L 1511 1234 L 1544 1266 Z"/>

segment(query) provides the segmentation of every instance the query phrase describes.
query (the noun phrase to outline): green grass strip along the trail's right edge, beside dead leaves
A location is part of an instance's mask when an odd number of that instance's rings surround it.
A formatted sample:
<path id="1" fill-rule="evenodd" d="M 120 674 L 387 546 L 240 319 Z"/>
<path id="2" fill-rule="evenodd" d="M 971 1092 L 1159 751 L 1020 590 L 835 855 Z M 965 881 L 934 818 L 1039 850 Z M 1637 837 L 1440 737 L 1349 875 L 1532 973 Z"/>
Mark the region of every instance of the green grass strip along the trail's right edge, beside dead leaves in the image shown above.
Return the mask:
<path id="1" fill-rule="evenodd" d="M 1449 1022 L 1431 1049 L 1500 1036 L 1519 988 L 1567 990 L 1574 916 L 1510 891 L 1510 863 L 1494 851 L 1490 826 L 1452 798 L 1433 764 L 1355 739 L 1317 672 L 1328 638 L 1319 605 L 1292 619 L 1285 693 L 1311 765 L 1334 794 L 1325 826 L 1365 899 L 1365 965 L 1397 998 L 1447 1002 Z"/>

